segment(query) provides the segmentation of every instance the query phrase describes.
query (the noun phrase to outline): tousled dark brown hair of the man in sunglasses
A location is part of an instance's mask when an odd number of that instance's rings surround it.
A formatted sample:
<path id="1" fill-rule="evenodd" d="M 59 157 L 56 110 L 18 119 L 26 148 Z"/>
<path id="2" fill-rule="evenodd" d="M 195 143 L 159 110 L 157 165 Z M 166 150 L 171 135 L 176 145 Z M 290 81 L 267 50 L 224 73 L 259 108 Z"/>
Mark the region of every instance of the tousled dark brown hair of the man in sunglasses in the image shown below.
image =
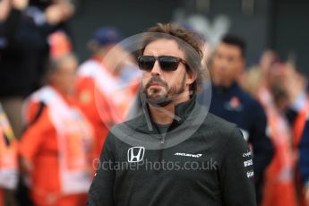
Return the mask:
<path id="1" fill-rule="evenodd" d="M 183 29 L 173 23 L 158 23 L 146 30 L 140 55 L 143 55 L 147 45 L 157 39 L 174 39 L 180 49 L 185 52 L 186 71 L 196 75 L 196 80 L 190 85 L 190 90 L 193 90 L 193 94 L 197 94 L 202 89 L 205 79 L 202 68 L 202 45 L 204 44 L 202 37 L 192 30 Z"/>

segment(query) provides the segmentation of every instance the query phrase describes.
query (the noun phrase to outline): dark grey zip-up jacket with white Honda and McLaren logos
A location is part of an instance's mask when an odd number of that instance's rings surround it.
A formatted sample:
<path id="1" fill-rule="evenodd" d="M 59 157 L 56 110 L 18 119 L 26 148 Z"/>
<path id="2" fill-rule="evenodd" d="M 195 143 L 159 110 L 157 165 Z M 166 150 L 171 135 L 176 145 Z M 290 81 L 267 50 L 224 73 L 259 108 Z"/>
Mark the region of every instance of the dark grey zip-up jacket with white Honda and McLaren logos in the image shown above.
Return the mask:
<path id="1" fill-rule="evenodd" d="M 195 98 L 177 105 L 180 119 L 165 139 L 148 124 L 148 112 L 116 125 L 102 150 L 88 205 L 256 205 L 252 153 L 242 134 L 211 114 L 202 124 L 194 122 L 202 111 Z M 180 135 L 173 134 L 177 129 Z"/>

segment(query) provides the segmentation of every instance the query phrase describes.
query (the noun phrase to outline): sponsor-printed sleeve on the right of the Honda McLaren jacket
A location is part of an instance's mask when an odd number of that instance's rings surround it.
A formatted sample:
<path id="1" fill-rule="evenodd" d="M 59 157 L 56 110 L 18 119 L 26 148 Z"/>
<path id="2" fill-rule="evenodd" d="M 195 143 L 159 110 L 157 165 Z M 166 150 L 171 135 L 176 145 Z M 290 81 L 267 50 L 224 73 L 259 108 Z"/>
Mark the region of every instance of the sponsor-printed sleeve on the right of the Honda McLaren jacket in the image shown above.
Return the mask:
<path id="1" fill-rule="evenodd" d="M 219 180 L 224 205 L 256 205 L 252 151 L 236 127 L 225 145 L 223 160 L 219 167 Z"/>

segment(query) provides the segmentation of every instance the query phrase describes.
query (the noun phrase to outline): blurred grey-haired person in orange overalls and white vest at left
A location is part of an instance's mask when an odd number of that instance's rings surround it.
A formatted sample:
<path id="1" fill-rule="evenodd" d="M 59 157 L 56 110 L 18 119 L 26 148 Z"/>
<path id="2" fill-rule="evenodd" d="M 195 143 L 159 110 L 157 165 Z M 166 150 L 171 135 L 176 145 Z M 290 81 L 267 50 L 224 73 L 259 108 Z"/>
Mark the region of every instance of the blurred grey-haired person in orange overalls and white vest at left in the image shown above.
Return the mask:
<path id="1" fill-rule="evenodd" d="M 73 97 L 76 68 L 74 56 L 54 57 L 47 86 L 25 104 L 29 126 L 19 151 L 35 205 L 78 206 L 87 201 L 94 133 Z"/>

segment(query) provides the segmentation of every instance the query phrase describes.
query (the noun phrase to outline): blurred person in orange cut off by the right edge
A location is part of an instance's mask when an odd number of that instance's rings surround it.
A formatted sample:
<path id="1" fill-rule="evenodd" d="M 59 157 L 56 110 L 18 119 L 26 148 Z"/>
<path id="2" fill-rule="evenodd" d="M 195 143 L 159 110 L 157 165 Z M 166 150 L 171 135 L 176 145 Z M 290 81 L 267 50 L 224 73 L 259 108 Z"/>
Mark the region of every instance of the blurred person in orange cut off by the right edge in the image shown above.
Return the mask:
<path id="1" fill-rule="evenodd" d="M 305 75 L 294 64 L 282 65 L 281 82 L 289 98 L 288 117 L 296 150 L 296 188 L 301 206 L 309 206 L 309 97 Z"/>

